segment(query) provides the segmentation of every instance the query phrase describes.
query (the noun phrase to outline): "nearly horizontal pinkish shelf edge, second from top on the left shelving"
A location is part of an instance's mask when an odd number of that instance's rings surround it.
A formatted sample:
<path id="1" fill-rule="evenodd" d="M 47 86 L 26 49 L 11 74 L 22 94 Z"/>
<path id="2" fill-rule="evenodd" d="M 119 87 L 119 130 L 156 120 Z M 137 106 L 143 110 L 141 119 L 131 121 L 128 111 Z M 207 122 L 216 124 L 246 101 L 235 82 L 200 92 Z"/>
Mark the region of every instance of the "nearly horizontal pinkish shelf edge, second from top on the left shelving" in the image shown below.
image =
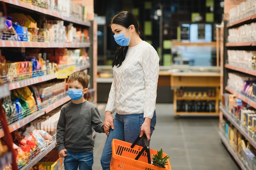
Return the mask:
<path id="1" fill-rule="evenodd" d="M 27 48 L 86 48 L 90 47 L 90 42 L 86 43 L 50 43 L 50 42 L 30 42 L 30 41 L 0 41 L 0 47 L 27 47 Z"/>

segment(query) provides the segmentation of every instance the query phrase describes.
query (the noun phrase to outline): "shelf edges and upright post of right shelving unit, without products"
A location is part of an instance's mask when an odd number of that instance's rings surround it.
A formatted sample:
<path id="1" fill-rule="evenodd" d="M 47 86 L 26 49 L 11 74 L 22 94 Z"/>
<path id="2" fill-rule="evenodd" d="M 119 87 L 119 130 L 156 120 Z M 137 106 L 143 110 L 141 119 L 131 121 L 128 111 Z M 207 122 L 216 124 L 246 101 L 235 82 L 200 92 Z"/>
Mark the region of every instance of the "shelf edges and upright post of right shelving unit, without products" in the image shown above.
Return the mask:
<path id="1" fill-rule="evenodd" d="M 255 41 L 250 41 L 250 42 L 227 42 L 227 37 L 228 37 L 228 29 L 230 28 L 237 28 L 239 26 L 242 26 L 244 24 L 250 24 L 252 22 L 256 21 L 256 13 L 255 14 L 251 14 L 250 16 L 244 17 L 240 20 L 234 21 L 234 22 L 229 22 L 229 15 L 228 15 L 228 11 L 231 8 L 236 7 L 236 5 L 238 4 L 234 4 L 233 1 L 231 0 L 225 0 L 225 7 L 224 7 L 224 15 L 225 15 L 225 22 L 224 22 L 224 26 L 220 29 L 221 30 L 221 39 L 222 39 L 222 51 L 221 51 L 221 95 L 223 96 L 224 93 L 230 93 L 233 94 L 234 96 L 236 96 L 237 98 L 243 100 L 243 102 L 249 104 L 250 106 L 254 107 L 256 109 L 256 102 L 254 100 L 252 100 L 251 98 L 248 98 L 247 96 L 245 96 L 244 94 L 241 94 L 241 92 L 236 91 L 236 89 L 234 89 L 234 87 L 229 87 L 227 85 L 227 79 L 228 79 L 228 73 L 229 72 L 239 72 L 240 74 L 245 74 L 245 75 L 252 75 L 252 76 L 256 76 L 256 70 L 252 70 L 250 68 L 247 67 L 243 67 L 240 66 L 239 63 L 237 63 L 237 65 L 231 65 L 230 63 L 227 63 L 228 61 L 228 54 L 227 54 L 227 50 L 229 49 L 234 49 L 234 47 L 238 47 L 237 50 L 256 50 L 255 46 L 256 46 L 256 42 Z M 240 2 L 243 2 L 243 0 L 240 0 Z M 229 4 L 229 5 L 226 5 Z M 247 7 L 247 9 L 249 9 L 249 7 Z M 253 13 L 252 11 L 250 13 Z M 232 18 L 231 18 L 232 19 Z M 239 35 L 238 35 L 239 36 Z M 238 37 L 239 38 L 239 37 Z M 224 99 L 223 99 L 224 100 Z M 222 103 L 224 103 L 224 101 L 222 101 Z M 229 144 L 229 139 L 227 139 L 227 137 L 225 137 L 225 135 L 223 134 L 223 130 L 222 130 L 222 126 L 221 126 L 221 122 L 223 122 L 223 120 L 227 120 L 227 122 L 229 122 L 229 124 L 236 128 L 238 130 L 238 132 L 243 135 L 243 137 L 250 143 L 252 144 L 252 146 L 254 148 L 256 148 L 256 140 L 251 137 L 251 135 L 245 130 L 245 128 L 240 124 L 240 120 L 238 120 L 239 118 L 234 118 L 234 116 L 232 116 L 231 113 L 229 113 L 229 111 L 227 111 L 225 109 L 224 106 L 220 105 L 220 130 L 219 130 L 219 135 L 220 135 L 220 139 L 222 140 L 222 142 L 225 144 L 225 146 L 227 147 L 227 150 L 229 151 L 229 153 L 232 155 L 232 157 L 234 158 L 234 160 L 236 160 L 236 162 L 238 163 L 238 165 L 240 166 L 240 168 L 242 170 L 250 170 L 248 164 L 247 164 L 247 160 L 243 160 L 243 158 L 238 157 L 237 153 L 234 151 L 234 149 L 230 146 Z"/>

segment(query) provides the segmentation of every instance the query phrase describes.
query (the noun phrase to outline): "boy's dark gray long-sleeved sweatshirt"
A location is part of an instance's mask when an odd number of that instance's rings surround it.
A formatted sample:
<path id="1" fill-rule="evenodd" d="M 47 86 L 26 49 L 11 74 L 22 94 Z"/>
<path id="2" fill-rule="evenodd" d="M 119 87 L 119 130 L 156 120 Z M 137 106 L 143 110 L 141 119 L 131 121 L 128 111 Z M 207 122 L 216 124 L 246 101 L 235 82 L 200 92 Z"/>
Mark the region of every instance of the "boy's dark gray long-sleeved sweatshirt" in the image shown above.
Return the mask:
<path id="1" fill-rule="evenodd" d="M 93 150 L 92 129 L 103 133 L 103 123 L 98 108 L 87 100 L 80 104 L 72 101 L 61 107 L 57 125 L 56 142 L 58 151 L 72 152 Z"/>

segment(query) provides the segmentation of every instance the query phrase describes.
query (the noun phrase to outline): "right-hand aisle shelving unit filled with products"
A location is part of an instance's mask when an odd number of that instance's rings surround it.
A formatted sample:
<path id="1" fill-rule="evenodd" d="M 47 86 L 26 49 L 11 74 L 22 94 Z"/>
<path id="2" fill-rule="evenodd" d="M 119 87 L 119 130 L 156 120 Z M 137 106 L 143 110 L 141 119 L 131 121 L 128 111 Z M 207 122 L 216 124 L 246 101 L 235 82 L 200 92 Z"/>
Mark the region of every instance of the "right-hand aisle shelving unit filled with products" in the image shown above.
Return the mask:
<path id="1" fill-rule="evenodd" d="M 249 162 L 249 158 L 247 160 L 243 158 L 246 155 L 246 149 L 252 151 L 251 155 L 254 155 L 256 149 L 256 136 L 254 125 L 252 125 L 256 116 L 254 113 L 256 109 L 254 97 L 255 2 L 255 0 L 240 0 L 235 3 L 232 0 L 224 0 L 225 17 L 223 27 L 220 28 L 223 46 L 220 52 L 222 105 L 220 105 L 219 134 L 229 153 L 243 170 L 250 170 L 256 166 L 252 159 Z M 229 122 L 228 129 L 226 127 L 226 136 L 223 135 L 221 126 L 225 121 Z M 236 141 L 236 137 L 234 140 L 227 137 L 227 133 L 231 132 L 229 129 L 234 130 L 232 131 L 234 136 L 240 133 L 250 144 L 248 148 L 243 147 L 243 152 L 240 151 L 242 156 L 235 151 L 236 148 L 232 143 Z"/>

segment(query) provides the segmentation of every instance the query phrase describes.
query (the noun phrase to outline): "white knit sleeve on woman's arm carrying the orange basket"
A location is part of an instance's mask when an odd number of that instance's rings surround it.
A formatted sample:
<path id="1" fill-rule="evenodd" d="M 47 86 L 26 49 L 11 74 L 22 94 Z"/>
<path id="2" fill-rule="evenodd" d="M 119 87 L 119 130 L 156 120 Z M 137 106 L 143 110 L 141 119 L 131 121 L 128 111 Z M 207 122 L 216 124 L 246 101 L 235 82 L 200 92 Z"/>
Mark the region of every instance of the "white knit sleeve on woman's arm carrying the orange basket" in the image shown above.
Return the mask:
<path id="1" fill-rule="evenodd" d="M 157 82 L 159 76 L 159 56 L 153 47 L 147 48 L 142 57 L 141 66 L 145 81 L 144 118 L 152 118 L 157 98 Z"/>

